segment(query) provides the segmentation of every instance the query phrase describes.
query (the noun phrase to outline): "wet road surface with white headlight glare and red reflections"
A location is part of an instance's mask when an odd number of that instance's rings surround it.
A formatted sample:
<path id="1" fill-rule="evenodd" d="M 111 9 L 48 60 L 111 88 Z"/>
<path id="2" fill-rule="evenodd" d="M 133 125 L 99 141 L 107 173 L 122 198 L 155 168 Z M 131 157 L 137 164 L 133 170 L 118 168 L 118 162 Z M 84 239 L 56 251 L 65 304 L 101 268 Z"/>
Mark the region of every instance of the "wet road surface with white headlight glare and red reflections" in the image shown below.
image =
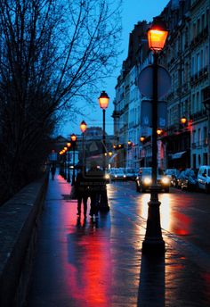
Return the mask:
<path id="1" fill-rule="evenodd" d="M 128 214 L 147 220 L 150 195 L 136 192 L 134 182 L 115 182 L 109 193 L 111 200 L 121 200 L 118 206 L 124 204 Z M 161 193 L 158 198 L 163 236 L 174 238 L 178 245 L 187 243 L 190 253 L 203 255 L 204 260 L 210 256 L 210 195 L 171 187 L 170 193 Z"/>

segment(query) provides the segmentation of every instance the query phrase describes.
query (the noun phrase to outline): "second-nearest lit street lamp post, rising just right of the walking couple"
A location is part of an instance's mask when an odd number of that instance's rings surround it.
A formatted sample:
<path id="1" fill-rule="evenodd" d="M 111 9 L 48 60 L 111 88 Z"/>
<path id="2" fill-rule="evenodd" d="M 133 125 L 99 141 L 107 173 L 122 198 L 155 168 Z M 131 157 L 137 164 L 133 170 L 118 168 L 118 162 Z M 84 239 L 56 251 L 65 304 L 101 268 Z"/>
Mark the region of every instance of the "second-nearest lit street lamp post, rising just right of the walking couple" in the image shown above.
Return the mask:
<path id="1" fill-rule="evenodd" d="M 105 133 L 105 112 L 109 105 L 109 95 L 105 91 L 101 92 L 101 95 L 98 98 L 100 107 L 103 112 L 103 137 L 102 137 L 102 167 L 105 173 L 106 170 L 106 133 Z M 105 174 L 104 174 L 105 175 Z M 109 211 L 109 204 L 108 204 L 108 196 L 107 196 L 107 186 L 105 184 L 104 191 L 101 192 L 101 210 Z"/>

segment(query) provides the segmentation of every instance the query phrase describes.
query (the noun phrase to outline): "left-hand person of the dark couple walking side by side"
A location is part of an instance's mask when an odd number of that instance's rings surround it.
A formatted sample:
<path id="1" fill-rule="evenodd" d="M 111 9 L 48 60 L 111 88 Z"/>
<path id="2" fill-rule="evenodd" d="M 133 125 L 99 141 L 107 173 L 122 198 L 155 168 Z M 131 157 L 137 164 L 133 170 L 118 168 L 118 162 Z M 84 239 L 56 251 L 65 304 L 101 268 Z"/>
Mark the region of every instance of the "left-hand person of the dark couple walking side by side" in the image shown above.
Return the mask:
<path id="1" fill-rule="evenodd" d="M 85 174 L 82 167 L 77 171 L 77 178 L 75 182 L 76 195 L 77 195 L 77 215 L 81 215 L 81 206 L 83 203 L 84 218 L 86 219 L 87 212 L 87 199 L 88 199 L 88 187 L 86 184 Z"/>

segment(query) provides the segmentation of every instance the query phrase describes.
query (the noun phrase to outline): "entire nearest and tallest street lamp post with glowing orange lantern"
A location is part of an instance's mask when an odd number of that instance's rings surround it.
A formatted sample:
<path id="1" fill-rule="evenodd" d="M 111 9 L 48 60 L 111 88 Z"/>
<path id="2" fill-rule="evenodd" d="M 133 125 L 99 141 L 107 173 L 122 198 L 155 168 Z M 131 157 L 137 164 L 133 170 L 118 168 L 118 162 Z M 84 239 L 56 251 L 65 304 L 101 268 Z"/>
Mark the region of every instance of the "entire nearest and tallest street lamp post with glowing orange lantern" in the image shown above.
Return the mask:
<path id="1" fill-rule="evenodd" d="M 168 31 L 159 18 L 154 19 L 148 30 L 149 49 L 153 52 L 152 76 L 152 185 L 148 209 L 147 229 L 142 243 L 142 253 L 165 253 L 165 242 L 160 227 L 157 184 L 157 129 L 158 129 L 158 53 L 163 50 Z"/>

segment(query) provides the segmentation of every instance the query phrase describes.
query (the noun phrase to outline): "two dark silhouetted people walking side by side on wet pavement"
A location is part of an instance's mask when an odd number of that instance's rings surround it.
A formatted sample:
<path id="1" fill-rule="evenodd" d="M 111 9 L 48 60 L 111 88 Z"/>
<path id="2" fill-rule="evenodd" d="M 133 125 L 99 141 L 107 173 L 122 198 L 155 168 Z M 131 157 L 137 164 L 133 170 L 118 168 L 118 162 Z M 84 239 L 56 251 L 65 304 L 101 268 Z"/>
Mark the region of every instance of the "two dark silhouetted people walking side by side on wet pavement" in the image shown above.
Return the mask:
<path id="1" fill-rule="evenodd" d="M 81 215 L 81 206 L 84 205 L 84 217 L 87 212 L 87 199 L 91 198 L 90 216 L 98 216 L 101 191 L 106 185 L 103 171 L 99 170 L 97 166 L 92 166 L 90 170 L 85 173 L 82 167 L 77 172 L 76 179 L 76 195 L 77 195 L 77 215 Z"/>

